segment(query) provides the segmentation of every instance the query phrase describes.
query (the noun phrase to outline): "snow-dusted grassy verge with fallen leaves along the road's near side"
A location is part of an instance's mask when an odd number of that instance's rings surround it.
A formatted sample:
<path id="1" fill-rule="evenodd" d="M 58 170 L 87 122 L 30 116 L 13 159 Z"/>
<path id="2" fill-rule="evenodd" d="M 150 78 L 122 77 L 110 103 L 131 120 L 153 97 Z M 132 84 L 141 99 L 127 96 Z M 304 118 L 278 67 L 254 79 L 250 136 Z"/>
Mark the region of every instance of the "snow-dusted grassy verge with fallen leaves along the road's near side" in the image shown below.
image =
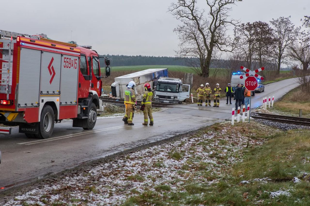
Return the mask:
<path id="1" fill-rule="evenodd" d="M 218 123 L 31 188 L 6 205 L 309 204 L 310 168 L 302 162 L 309 134 Z"/>

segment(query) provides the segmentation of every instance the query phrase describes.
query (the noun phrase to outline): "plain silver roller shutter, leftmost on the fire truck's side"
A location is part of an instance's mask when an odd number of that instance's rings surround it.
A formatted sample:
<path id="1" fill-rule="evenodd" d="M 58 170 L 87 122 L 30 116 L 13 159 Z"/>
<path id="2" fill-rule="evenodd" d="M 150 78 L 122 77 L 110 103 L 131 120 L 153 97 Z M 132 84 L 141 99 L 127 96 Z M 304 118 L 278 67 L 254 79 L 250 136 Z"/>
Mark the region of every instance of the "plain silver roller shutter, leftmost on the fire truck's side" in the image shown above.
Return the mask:
<path id="1" fill-rule="evenodd" d="M 18 87 L 19 107 L 38 105 L 40 95 L 41 51 L 22 48 Z"/>

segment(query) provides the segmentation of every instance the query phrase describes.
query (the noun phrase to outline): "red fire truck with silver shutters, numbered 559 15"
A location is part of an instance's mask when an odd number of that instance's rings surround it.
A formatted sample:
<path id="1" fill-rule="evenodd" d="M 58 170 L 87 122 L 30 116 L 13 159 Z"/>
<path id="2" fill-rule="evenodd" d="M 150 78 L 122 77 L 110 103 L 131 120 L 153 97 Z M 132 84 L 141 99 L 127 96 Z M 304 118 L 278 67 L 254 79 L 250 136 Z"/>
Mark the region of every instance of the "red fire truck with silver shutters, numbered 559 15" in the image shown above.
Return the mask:
<path id="1" fill-rule="evenodd" d="M 99 59 L 90 46 L 0 31 L 0 123 L 34 138 L 50 137 L 54 123 L 68 118 L 92 129 L 104 110 L 101 78 L 110 75 L 110 60 L 101 75 Z"/>

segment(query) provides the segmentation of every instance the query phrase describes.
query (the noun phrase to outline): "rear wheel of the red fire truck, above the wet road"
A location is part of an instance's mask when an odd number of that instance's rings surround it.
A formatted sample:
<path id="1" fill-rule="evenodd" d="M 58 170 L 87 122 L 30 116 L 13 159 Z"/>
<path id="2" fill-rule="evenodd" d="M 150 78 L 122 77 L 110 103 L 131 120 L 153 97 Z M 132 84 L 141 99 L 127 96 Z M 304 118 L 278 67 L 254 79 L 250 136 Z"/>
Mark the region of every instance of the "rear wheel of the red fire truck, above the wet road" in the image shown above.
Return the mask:
<path id="1" fill-rule="evenodd" d="M 45 105 L 41 112 L 41 119 L 39 122 L 39 133 L 35 135 L 37 138 L 49 138 L 54 130 L 55 115 L 54 110 L 50 105 Z"/>

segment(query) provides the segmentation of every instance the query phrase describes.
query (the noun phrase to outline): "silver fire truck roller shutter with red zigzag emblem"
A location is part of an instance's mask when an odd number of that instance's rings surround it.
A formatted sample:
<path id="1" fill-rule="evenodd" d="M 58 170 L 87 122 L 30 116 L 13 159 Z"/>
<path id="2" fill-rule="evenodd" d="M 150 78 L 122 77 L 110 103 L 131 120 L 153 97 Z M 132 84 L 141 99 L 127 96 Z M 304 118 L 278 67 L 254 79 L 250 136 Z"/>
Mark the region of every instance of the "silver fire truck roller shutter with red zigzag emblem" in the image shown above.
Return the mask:
<path id="1" fill-rule="evenodd" d="M 66 64 L 69 64 L 69 62 L 66 62 Z M 61 65 L 62 65 L 61 54 L 46 51 L 42 53 L 41 94 L 43 95 L 59 94 Z"/>

